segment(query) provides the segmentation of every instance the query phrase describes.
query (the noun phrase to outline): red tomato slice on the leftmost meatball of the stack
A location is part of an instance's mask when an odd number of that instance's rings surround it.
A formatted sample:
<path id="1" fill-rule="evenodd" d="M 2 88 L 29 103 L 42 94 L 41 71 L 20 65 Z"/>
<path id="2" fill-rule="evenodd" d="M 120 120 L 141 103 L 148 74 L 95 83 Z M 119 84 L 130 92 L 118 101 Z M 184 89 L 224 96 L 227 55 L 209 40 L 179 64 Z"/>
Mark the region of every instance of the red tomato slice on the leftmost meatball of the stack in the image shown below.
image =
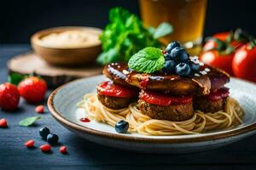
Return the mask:
<path id="1" fill-rule="evenodd" d="M 137 90 L 126 88 L 113 82 L 102 82 L 96 89 L 98 94 L 119 98 L 129 98 L 138 94 Z"/>

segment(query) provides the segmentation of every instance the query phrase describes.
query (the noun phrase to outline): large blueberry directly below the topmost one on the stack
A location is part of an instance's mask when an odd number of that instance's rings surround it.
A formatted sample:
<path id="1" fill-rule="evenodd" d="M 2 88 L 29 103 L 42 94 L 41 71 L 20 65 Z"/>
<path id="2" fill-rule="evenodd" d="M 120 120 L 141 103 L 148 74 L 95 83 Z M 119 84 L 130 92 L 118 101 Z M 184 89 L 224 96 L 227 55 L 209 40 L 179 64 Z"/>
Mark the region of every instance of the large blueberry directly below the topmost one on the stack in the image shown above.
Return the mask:
<path id="1" fill-rule="evenodd" d="M 172 59 L 174 59 L 177 63 L 179 62 L 188 62 L 189 54 L 186 52 L 184 48 L 173 48 L 171 51 Z"/>

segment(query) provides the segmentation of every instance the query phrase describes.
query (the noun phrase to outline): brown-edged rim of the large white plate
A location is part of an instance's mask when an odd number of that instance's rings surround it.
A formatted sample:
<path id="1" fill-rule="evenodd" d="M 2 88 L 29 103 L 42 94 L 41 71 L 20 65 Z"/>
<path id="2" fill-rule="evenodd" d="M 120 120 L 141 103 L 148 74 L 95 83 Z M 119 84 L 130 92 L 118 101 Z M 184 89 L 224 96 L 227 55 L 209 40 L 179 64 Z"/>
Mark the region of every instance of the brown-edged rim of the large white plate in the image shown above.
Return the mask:
<path id="1" fill-rule="evenodd" d="M 98 75 L 94 77 L 102 77 L 102 75 Z M 85 126 L 79 125 L 78 123 L 69 121 L 67 118 L 62 116 L 59 111 L 56 111 L 55 105 L 54 105 L 54 98 L 55 98 L 55 94 L 57 94 L 61 90 L 61 88 L 64 88 L 72 83 L 84 81 L 85 79 L 90 79 L 94 77 L 79 78 L 77 80 L 67 82 L 61 85 L 59 88 L 56 88 L 51 94 L 49 94 L 47 105 L 48 105 L 50 114 L 55 118 L 55 120 L 60 122 L 63 126 L 71 127 L 77 131 L 82 131 L 84 133 L 89 133 L 92 135 L 97 135 L 97 136 L 101 136 L 108 139 L 119 139 L 119 140 L 131 141 L 131 142 L 148 142 L 150 144 L 154 144 L 154 143 L 177 144 L 177 143 L 206 142 L 209 140 L 225 139 L 225 138 L 233 137 L 239 134 L 249 133 L 256 129 L 256 122 L 253 122 L 252 124 L 244 127 L 238 127 L 233 130 L 231 129 L 230 131 L 224 131 L 224 132 L 218 132 L 218 133 L 212 133 L 212 134 L 209 133 L 204 136 L 195 136 L 195 137 L 191 136 L 189 138 L 177 138 L 177 139 L 168 139 L 168 138 L 154 139 L 154 138 L 144 138 L 141 136 L 140 137 L 132 136 L 132 135 L 129 136 L 121 133 L 108 133 L 108 132 L 103 132 L 90 127 L 85 127 Z M 232 77 L 232 79 L 236 79 L 242 82 L 247 82 L 256 86 L 256 83 L 254 82 L 249 82 L 236 77 Z"/>

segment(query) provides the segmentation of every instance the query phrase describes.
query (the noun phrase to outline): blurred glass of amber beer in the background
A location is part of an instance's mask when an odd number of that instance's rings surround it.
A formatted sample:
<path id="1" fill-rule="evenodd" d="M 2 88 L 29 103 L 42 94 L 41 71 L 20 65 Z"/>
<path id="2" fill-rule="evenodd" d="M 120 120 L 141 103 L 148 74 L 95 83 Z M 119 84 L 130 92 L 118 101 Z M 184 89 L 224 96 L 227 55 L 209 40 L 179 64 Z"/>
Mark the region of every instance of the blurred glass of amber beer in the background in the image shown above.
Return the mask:
<path id="1" fill-rule="evenodd" d="M 190 53 L 200 52 L 207 0 L 140 0 L 140 9 L 145 26 L 172 24 L 174 31 L 161 42 L 178 41 Z"/>

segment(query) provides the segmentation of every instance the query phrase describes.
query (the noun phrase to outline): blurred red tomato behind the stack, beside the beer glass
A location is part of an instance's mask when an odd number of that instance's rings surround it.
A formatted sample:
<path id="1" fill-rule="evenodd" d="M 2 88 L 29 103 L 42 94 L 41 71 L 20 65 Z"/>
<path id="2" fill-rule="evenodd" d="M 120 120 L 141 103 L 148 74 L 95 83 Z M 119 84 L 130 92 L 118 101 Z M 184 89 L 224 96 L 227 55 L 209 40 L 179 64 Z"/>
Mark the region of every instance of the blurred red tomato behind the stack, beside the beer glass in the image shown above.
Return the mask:
<path id="1" fill-rule="evenodd" d="M 218 67 L 227 73 L 230 76 L 233 76 L 232 71 L 232 59 L 234 57 L 234 53 L 228 55 L 220 55 L 217 50 L 207 51 L 201 54 L 200 59 L 207 65 L 212 65 Z"/>

